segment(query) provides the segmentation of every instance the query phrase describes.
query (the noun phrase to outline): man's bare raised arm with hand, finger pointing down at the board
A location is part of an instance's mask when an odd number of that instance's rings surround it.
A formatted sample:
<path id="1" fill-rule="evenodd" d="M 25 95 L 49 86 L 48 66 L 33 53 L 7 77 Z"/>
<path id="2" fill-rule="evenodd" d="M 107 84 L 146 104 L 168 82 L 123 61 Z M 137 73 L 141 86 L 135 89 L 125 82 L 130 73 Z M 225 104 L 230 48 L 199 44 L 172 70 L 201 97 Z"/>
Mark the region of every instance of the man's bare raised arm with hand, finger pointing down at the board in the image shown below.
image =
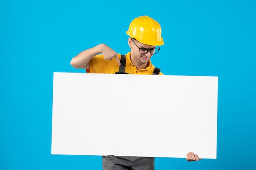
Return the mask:
<path id="1" fill-rule="evenodd" d="M 99 44 L 90 49 L 82 51 L 81 53 L 76 55 L 76 57 L 72 58 L 70 64 L 74 68 L 89 69 L 89 61 L 92 59 L 92 57 L 100 53 L 102 53 L 105 60 L 112 60 L 115 57 L 115 59 L 117 60 L 117 63 L 120 65 L 120 61 L 117 53 L 105 44 Z"/>

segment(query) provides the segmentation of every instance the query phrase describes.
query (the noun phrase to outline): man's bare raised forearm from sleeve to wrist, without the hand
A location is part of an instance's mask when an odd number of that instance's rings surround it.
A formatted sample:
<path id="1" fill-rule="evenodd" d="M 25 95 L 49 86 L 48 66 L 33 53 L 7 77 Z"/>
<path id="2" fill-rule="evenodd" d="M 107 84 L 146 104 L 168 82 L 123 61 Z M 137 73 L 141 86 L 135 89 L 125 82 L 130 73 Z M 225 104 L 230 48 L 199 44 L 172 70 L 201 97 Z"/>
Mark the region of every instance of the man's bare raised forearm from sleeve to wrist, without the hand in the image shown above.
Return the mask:
<path id="1" fill-rule="evenodd" d="M 95 55 L 102 53 L 101 50 L 102 44 L 99 44 L 97 46 L 94 46 L 90 49 L 87 49 L 85 51 L 82 51 L 76 57 L 73 57 L 70 64 L 74 68 L 89 68 L 89 61 L 94 57 Z"/>

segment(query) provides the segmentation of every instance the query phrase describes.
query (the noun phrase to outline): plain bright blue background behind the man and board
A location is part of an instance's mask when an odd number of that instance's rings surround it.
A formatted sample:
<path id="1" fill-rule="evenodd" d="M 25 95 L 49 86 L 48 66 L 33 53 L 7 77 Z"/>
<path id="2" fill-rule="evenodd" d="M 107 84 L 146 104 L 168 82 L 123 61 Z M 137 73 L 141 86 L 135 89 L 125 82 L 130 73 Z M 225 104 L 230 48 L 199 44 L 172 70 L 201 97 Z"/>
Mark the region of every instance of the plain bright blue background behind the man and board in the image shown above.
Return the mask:
<path id="1" fill-rule="evenodd" d="M 127 53 L 125 32 L 141 15 L 162 26 L 152 62 L 164 74 L 219 77 L 217 159 L 156 158 L 155 169 L 256 169 L 255 9 L 254 0 L 1 0 L 0 169 L 101 170 L 99 156 L 51 155 L 53 72 L 84 73 L 70 60 L 99 43 Z"/>

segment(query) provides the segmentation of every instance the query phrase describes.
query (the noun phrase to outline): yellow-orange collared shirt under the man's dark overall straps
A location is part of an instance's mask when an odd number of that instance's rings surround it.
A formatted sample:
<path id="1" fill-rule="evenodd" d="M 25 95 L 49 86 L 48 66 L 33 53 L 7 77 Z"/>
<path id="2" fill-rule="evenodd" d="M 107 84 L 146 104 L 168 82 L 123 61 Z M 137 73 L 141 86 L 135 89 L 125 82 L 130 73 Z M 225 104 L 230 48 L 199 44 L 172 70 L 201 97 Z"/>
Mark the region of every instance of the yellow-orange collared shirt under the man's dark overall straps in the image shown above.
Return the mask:
<path id="1" fill-rule="evenodd" d="M 117 54 L 119 60 L 121 58 L 121 54 Z M 86 69 L 87 73 L 109 73 L 115 74 L 119 71 L 119 65 L 115 58 L 113 60 L 105 60 L 102 54 L 96 55 L 92 57 L 89 61 L 90 69 Z M 151 61 L 148 61 L 148 66 L 145 69 L 137 70 L 136 66 L 132 64 L 130 60 L 130 52 L 126 54 L 126 66 L 125 66 L 125 73 L 129 74 L 146 74 L 152 75 L 155 66 L 151 64 Z M 163 73 L 159 73 L 159 75 L 163 75 Z"/>

